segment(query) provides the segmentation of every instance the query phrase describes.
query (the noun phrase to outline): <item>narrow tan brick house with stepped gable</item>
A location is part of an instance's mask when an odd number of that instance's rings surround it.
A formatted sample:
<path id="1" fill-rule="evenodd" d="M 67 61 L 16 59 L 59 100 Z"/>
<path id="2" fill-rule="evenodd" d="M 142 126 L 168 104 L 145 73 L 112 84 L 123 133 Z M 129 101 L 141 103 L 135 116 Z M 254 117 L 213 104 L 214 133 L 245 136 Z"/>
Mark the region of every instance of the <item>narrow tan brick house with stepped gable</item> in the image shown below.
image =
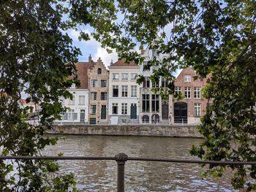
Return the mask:
<path id="1" fill-rule="evenodd" d="M 89 123 L 108 123 L 108 77 L 109 72 L 102 60 L 92 61 L 89 78 Z"/>

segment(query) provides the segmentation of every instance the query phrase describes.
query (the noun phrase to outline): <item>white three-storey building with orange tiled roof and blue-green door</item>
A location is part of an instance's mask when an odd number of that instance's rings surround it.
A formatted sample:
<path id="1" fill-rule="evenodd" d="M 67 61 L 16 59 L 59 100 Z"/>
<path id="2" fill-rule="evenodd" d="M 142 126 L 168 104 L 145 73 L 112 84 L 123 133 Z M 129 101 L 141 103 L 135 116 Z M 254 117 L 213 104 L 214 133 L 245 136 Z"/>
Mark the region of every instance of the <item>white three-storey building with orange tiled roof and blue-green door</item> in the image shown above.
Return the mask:
<path id="1" fill-rule="evenodd" d="M 140 66 L 125 59 L 109 67 L 108 116 L 110 124 L 138 123 L 139 85 L 136 77 Z"/>

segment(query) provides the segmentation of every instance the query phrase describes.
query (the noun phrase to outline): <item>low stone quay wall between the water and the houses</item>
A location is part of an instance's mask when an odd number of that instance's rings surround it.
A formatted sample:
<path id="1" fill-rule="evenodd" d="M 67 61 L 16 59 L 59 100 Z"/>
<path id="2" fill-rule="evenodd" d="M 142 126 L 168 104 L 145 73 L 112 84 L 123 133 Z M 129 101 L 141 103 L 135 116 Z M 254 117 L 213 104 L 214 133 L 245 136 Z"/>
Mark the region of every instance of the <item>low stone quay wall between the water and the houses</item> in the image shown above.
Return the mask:
<path id="1" fill-rule="evenodd" d="M 63 125 L 47 134 L 202 138 L 196 126 L 189 125 Z"/>

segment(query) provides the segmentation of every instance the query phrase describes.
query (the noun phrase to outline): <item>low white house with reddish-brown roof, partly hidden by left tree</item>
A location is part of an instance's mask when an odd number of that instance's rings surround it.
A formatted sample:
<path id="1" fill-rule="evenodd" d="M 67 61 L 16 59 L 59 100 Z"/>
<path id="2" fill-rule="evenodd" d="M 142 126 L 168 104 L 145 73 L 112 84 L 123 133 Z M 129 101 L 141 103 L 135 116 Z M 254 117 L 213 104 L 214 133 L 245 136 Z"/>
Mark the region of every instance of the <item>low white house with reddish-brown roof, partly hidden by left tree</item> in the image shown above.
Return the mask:
<path id="1" fill-rule="evenodd" d="M 73 99 L 64 99 L 61 97 L 64 107 L 69 107 L 67 112 L 62 115 L 61 121 L 56 121 L 58 124 L 87 124 L 89 115 L 89 90 L 88 90 L 88 70 L 91 68 L 91 57 L 89 62 L 78 62 L 75 64 L 80 87 L 76 88 L 72 85 L 68 89 L 72 93 Z"/>

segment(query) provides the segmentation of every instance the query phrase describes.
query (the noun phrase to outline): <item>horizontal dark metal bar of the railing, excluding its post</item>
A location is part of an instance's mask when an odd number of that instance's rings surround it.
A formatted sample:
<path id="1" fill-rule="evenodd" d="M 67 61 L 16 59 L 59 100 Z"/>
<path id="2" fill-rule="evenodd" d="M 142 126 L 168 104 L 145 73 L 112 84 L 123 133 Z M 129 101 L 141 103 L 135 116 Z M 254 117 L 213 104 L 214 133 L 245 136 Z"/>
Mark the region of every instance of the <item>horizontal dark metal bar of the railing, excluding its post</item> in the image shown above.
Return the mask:
<path id="1" fill-rule="evenodd" d="M 88 156 L 0 156 L 0 159 L 37 159 L 37 160 L 116 160 L 115 157 L 88 157 Z M 128 157 L 129 161 L 158 161 L 182 164 L 234 164 L 234 165 L 254 165 L 256 161 L 203 161 L 203 160 L 187 160 L 173 158 L 139 158 Z"/>

